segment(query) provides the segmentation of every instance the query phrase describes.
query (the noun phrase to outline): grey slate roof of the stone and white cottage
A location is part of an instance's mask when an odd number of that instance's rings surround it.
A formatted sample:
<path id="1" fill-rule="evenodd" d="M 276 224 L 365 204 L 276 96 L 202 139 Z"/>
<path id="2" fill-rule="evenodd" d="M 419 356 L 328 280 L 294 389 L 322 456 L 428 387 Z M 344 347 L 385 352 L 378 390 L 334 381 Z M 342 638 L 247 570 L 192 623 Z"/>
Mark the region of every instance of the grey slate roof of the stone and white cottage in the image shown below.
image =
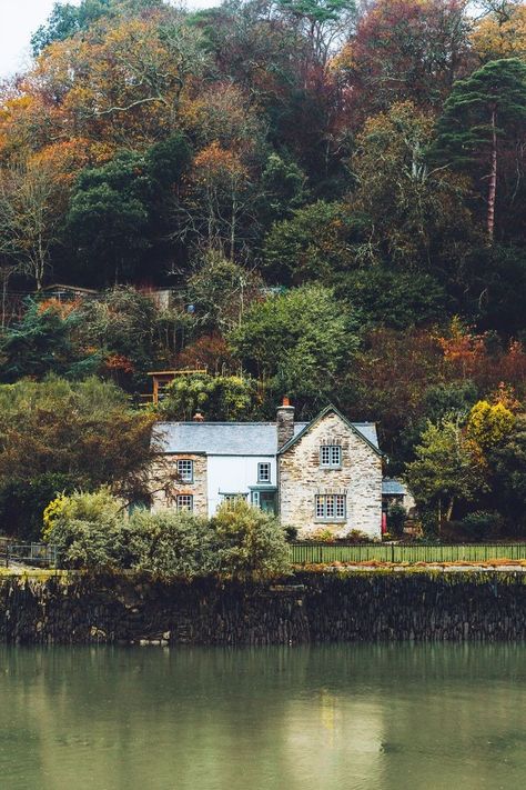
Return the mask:
<path id="1" fill-rule="evenodd" d="M 307 422 L 294 423 L 297 436 Z M 362 436 L 378 446 L 374 422 L 353 423 Z M 153 429 L 164 452 L 205 453 L 208 456 L 275 456 L 275 422 L 158 422 Z"/>

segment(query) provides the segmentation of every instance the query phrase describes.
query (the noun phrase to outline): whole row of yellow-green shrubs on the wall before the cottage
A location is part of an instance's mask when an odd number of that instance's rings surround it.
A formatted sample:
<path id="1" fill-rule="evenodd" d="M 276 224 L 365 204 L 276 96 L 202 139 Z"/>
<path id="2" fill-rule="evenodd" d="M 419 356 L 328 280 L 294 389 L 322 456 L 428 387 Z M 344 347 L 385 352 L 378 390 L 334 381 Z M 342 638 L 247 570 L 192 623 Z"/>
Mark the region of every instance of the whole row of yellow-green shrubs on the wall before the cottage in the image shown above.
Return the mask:
<path id="1" fill-rule="evenodd" d="M 108 488 L 74 492 L 51 503 L 44 530 L 65 568 L 132 568 L 155 576 L 221 574 L 267 579 L 289 571 L 285 530 L 276 518 L 239 500 L 219 508 L 212 520 L 192 513 L 135 510 Z"/>

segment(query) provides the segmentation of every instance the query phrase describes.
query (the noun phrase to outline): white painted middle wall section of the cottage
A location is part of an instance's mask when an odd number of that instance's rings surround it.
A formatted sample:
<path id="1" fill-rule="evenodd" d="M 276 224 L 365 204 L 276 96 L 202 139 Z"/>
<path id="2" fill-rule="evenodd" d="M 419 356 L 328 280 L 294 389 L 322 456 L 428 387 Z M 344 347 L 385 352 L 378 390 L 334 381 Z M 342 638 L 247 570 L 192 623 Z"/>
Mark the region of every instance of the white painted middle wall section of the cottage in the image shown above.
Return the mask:
<path id="1" fill-rule="evenodd" d="M 259 463 L 271 464 L 271 486 L 276 486 L 275 456 L 208 457 L 209 516 L 213 516 L 223 501 L 220 492 L 250 494 L 249 486 L 257 486 Z"/>

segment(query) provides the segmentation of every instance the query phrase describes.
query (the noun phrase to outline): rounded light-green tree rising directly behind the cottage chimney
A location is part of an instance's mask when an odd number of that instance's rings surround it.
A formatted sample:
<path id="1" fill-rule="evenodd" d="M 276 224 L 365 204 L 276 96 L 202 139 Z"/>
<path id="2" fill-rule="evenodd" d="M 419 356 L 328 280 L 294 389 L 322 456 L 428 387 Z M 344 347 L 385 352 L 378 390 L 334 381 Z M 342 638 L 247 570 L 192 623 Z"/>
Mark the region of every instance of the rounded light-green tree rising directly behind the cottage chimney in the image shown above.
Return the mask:
<path id="1" fill-rule="evenodd" d="M 357 349 L 357 318 L 342 312 L 332 290 L 304 286 L 251 306 L 230 342 L 274 402 L 287 392 L 316 408 L 333 399 L 341 366 Z"/>

